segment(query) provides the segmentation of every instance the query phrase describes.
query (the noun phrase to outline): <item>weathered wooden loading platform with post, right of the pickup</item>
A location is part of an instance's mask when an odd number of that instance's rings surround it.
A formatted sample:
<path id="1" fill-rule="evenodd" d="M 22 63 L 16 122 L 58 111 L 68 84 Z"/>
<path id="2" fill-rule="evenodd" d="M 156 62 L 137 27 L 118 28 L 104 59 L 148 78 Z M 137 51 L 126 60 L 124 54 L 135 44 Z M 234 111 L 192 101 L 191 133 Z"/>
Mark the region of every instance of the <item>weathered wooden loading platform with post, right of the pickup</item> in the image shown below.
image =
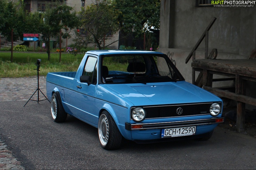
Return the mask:
<path id="1" fill-rule="evenodd" d="M 247 81 L 256 82 L 256 60 L 252 59 L 195 59 L 191 63 L 194 71 L 203 73 L 203 88 L 219 97 L 237 101 L 237 129 L 245 129 L 245 103 L 256 106 L 256 99 L 246 96 Z M 213 88 L 213 74 L 227 76 L 235 81 L 235 92 Z M 193 82 L 194 83 L 194 82 Z"/>

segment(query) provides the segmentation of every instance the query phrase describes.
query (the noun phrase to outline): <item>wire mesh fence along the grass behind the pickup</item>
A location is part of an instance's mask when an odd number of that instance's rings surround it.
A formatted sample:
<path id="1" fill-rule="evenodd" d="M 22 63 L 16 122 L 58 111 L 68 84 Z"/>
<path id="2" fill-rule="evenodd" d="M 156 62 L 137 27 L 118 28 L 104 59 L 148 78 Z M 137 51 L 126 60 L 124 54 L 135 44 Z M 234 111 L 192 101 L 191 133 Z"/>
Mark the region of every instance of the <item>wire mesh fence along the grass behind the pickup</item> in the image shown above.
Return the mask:
<path id="1" fill-rule="evenodd" d="M 155 35 L 154 35 L 155 36 Z M 84 53 L 88 50 L 97 50 L 98 47 L 94 43 L 86 44 L 85 46 L 75 45 L 74 39 L 79 38 L 85 39 L 86 36 L 80 35 L 76 37 L 75 34 L 63 39 L 61 36 L 58 38 L 53 38 L 50 41 L 50 56 L 51 59 L 56 60 L 61 59 L 67 54 L 74 56 L 83 56 Z M 120 32 L 114 35 L 108 35 L 104 37 L 104 40 L 101 44 L 102 49 L 138 49 L 138 50 L 150 50 L 152 49 L 152 37 L 145 36 L 140 39 L 134 40 L 133 36 L 126 37 Z M 154 37 L 158 39 L 158 37 Z M 30 39 L 28 39 L 30 40 Z M 48 58 L 46 53 L 46 43 L 43 42 L 41 37 L 38 37 L 37 41 L 16 41 L 8 42 L 5 37 L 0 38 L 0 61 L 11 61 L 11 62 L 27 62 L 30 58 Z M 134 43 L 135 42 L 135 43 Z M 11 48 L 13 44 L 13 48 Z M 78 47 L 79 46 L 79 47 Z M 156 49 L 156 48 L 155 48 Z M 154 50 L 155 51 L 155 50 Z"/>

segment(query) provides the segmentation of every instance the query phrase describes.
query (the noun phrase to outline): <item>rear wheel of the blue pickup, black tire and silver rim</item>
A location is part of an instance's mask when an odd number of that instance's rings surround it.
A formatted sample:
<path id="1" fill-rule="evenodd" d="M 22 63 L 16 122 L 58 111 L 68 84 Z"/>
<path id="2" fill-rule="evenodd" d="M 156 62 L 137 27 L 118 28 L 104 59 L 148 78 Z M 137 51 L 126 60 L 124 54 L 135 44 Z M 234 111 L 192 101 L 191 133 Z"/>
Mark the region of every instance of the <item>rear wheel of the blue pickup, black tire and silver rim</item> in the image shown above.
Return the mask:
<path id="1" fill-rule="evenodd" d="M 55 122 L 64 122 L 67 118 L 67 113 L 65 112 L 61 99 L 59 99 L 56 93 L 51 96 L 51 116 Z"/>

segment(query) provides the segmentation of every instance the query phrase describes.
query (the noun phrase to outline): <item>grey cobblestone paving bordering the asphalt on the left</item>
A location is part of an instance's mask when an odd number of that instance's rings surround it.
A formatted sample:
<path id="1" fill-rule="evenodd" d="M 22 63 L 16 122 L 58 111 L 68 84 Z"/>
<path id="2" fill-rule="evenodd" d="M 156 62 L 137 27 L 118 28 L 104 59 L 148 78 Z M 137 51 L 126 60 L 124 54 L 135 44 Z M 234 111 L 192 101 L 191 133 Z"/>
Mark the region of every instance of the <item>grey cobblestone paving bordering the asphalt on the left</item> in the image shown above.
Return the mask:
<path id="1" fill-rule="evenodd" d="M 37 76 L 21 78 L 0 78 L 0 102 L 1 101 L 28 101 L 37 90 Z M 39 88 L 46 95 L 46 77 L 39 76 Z M 39 92 L 39 101 L 46 99 Z M 36 92 L 29 102 L 38 101 Z M 1 141 L 0 136 L 0 169 L 25 169 L 21 166 L 21 161 L 15 158 L 8 146 Z"/>

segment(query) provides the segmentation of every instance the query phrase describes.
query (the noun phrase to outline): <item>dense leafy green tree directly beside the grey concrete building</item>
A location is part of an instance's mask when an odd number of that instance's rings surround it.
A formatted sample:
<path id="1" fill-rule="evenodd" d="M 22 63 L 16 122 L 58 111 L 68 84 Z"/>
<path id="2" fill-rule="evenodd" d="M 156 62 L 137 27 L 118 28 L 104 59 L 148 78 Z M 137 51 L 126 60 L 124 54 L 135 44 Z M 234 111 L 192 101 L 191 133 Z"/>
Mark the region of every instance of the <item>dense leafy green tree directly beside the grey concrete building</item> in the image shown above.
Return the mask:
<path id="1" fill-rule="evenodd" d="M 159 29 L 160 0 L 113 0 L 118 15 L 120 31 L 134 35 L 135 39 L 149 33 L 150 28 Z"/>

